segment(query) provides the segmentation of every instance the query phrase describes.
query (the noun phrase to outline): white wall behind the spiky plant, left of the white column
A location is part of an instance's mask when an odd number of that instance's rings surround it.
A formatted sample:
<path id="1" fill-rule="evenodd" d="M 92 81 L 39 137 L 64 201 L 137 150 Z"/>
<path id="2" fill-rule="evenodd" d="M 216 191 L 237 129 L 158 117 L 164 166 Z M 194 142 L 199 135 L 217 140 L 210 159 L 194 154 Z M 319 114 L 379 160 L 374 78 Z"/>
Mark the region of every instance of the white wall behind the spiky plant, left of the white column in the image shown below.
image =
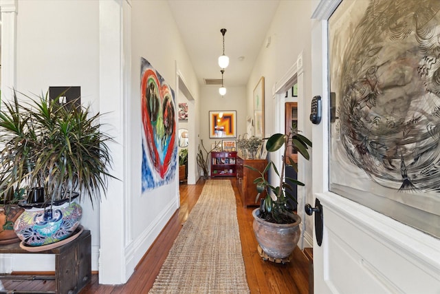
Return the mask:
<path id="1" fill-rule="evenodd" d="M 92 111 L 98 111 L 98 1 L 19 1 L 18 6 L 16 89 L 25 94 L 41 94 L 49 86 L 80 86 L 83 104 L 91 103 Z M 91 230 L 96 270 L 99 202 L 94 205 L 93 210 L 89 200 L 82 203 L 81 223 Z M 8 270 L 54 269 L 51 256 L 34 257 L 35 262 L 28 258 L 13 255 Z"/>

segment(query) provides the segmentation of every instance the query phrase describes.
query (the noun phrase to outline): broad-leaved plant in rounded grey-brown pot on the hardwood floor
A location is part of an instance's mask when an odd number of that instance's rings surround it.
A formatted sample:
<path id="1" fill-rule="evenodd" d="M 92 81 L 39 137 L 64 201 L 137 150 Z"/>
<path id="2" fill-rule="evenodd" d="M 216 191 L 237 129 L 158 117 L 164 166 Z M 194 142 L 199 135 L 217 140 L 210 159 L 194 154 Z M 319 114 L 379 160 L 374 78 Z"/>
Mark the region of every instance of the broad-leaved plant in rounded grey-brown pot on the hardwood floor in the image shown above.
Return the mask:
<path id="1" fill-rule="evenodd" d="M 285 165 L 292 166 L 298 172 L 298 165 L 296 165 L 292 158 L 287 156 L 287 149 L 292 146 L 292 149 L 298 151 L 305 159 L 309 160 L 308 147 L 311 147 L 311 141 L 305 136 L 298 134 L 294 126 L 288 134 L 274 134 L 267 139 L 266 149 L 268 152 L 277 151 L 283 146 L 285 147 L 283 152 L 283 162 L 285 164 L 281 167 L 281 173 L 278 172 L 272 161 L 267 163 L 263 171 L 247 166 L 261 175 L 254 180 L 256 189 L 259 192 L 256 196 L 256 201 L 260 198 L 261 192 L 267 191 L 267 196 L 262 200 L 260 207 L 252 211 L 256 240 L 267 256 L 279 260 L 288 258 L 292 254 L 300 238 L 299 224 L 301 218 L 288 204 L 289 199 L 296 202 L 293 193 L 295 187 L 289 182 L 292 182 L 294 185 L 304 186 L 303 182 L 294 178 L 285 178 Z M 265 179 L 264 175 L 270 169 L 278 176 L 278 185 L 272 185 Z"/>

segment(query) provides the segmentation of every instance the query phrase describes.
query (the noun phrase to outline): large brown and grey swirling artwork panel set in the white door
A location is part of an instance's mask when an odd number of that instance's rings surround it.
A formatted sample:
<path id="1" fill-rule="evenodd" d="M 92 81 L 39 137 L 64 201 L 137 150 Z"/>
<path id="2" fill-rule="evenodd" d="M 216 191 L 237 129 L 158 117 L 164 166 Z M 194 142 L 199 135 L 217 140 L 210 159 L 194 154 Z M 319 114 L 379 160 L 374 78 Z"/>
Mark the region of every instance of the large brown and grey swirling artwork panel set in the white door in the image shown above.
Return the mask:
<path id="1" fill-rule="evenodd" d="M 438 0 L 342 1 L 330 17 L 329 189 L 440 238 L 434 32 Z"/>

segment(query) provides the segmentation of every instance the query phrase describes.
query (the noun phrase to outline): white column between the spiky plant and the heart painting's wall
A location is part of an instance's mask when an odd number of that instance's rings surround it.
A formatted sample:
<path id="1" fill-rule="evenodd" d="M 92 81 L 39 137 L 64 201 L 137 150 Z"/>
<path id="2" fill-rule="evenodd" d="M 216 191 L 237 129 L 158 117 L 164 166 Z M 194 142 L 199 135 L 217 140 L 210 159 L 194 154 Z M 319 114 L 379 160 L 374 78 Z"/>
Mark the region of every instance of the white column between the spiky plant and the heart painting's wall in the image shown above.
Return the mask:
<path id="1" fill-rule="evenodd" d="M 126 185 L 130 162 L 127 146 L 129 119 L 126 101 L 130 96 L 131 6 L 126 0 L 100 0 L 100 112 L 113 158 L 107 198 L 100 205 L 100 284 L 124 284 L 133 273 L 126 248 L 130 235 L 130 187 Z"/>

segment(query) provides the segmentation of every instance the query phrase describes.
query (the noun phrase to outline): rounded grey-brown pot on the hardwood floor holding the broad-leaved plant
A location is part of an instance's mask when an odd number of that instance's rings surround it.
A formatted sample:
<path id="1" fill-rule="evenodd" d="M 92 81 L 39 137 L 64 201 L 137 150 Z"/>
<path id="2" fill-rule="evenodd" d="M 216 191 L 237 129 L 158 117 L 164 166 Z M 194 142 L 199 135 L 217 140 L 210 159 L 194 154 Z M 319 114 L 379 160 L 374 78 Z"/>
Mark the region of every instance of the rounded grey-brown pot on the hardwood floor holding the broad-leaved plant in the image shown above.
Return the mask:
<path id="1" fill-rule="evenodd" d="M 295 222 L 292 224 L 274 224 L 263 220 L 259 215 L 259 208 L 252 211 L 254 233 L 261 249 L 272 258 L 289 257 L 300 239 L 300 216 L 295 214 Z"/>

